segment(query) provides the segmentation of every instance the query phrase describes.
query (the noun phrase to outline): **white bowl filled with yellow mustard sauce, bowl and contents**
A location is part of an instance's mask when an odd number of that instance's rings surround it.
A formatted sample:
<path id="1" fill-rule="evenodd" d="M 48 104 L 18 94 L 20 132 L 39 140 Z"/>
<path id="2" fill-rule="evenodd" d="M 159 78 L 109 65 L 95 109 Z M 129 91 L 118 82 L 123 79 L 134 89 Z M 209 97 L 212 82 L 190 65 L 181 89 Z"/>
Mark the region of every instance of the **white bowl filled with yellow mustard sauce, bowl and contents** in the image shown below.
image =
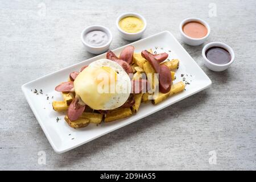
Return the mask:
<path id="1" fill-rule="evenodd" d="M 146 30 L 146 19 L 137 13 L 125 13 L 118 16 L 116 26 L 123 39 L 138 40 Z"/>

